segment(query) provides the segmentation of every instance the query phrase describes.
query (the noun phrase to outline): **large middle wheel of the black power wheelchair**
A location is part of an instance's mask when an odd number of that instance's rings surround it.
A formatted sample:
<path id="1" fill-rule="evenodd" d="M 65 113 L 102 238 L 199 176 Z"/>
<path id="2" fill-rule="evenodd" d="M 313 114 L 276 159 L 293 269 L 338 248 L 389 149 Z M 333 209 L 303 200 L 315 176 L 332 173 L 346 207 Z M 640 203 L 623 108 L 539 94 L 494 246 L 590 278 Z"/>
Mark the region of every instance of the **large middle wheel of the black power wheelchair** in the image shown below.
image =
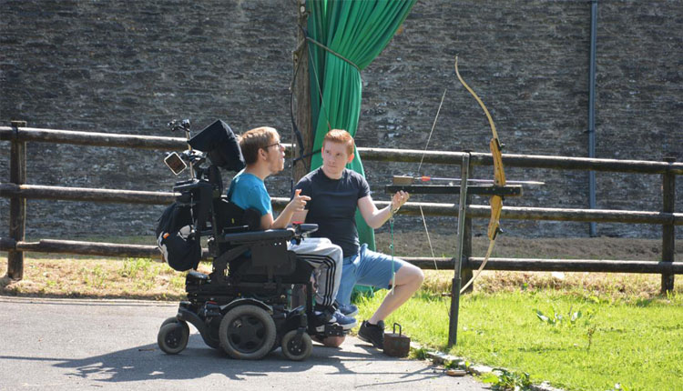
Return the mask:
<path id="1" fill-rule="evenodd" d="M 237 306 L 220 321 L 220 346 L 232 358 L 258 360 L 270 352 L 276 336 L 275 322 L 259 306 Z"/>

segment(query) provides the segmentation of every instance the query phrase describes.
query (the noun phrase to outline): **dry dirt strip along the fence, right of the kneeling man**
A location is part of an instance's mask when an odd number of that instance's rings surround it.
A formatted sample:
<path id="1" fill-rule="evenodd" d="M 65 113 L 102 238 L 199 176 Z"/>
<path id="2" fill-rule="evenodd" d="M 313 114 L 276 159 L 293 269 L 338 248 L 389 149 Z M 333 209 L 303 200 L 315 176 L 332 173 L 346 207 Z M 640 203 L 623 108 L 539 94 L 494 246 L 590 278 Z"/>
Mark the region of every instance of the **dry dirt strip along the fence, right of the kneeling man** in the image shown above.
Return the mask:
<path id="1" fill-rule="evenodd" d="M 409 240 L 405 238 L 409 237 Z M 397 256 L 451 257 L 455 253 L 455 235 L 424 232 L 395 232 L 393 246 Z M 389 254 L 391 236 L 388 232 L 376 234 L 378 251 Z M 479 236 L 473 239 L 473 256 L 484 256 L 489 241 Z M 547 258 L 547 259 L 604 259 L 628 261 L 661 260 L 661 240 L 616 237 L 576 238 L 520 238 L 499 236 L 495 242 L 494 257 Z M 683 242 L 676 243 L 676 256 L 683 254 Z M 434 294 L 451 291 L 453 270 L 425 270 L 423 288 Z M 625 273 L 550 273 L 486 271 L 474 284 L 475 292 L 494 293 L 511 290 L 555 289 L 581 296 L 601 296 L 611 299 L 648 299 L 660 294 L 661 276 Z M 675 292 L 683 294 L 678 277 Z"/>

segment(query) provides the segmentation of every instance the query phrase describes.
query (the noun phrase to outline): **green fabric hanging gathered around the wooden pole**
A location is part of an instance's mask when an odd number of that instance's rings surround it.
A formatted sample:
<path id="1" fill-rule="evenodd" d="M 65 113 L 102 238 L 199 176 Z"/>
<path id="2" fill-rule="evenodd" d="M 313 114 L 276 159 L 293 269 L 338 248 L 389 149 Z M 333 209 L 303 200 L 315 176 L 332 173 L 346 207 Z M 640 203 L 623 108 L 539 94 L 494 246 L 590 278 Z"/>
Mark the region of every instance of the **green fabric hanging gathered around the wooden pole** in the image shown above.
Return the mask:
<path id="1" fill-rule="evenodd" d="M 309 43 L 311 120 L 315 126 L 313 150 L 321 149 L 330 129 L 345 129 L 355 136 L 361 115 L 361 71 L 382 53 L 417 0 L 309 0 L 308 32 L 311 39 L 342 55 Z M 350 62 L 353 64 L 350 64 Z M 354 66 L 355 65 L 355 66 Z M 322 99 L 321 99 L 322 95 Z M 365 175 L 355 152 L 347 165 Z M 320 154 L 311 159 L 311 171 L 322 165 Z M 374 250 L 374 231 L 356 211 L 361 243 Z"/>

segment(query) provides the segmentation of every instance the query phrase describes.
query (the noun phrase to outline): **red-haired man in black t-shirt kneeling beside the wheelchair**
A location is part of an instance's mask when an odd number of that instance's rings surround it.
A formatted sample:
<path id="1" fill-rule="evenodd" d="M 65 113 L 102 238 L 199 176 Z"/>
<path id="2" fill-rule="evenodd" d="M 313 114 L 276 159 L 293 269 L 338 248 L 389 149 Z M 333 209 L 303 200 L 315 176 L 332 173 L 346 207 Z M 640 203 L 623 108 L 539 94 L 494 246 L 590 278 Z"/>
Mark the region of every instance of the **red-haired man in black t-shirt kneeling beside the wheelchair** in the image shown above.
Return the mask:
<path id="1" fill-rule="evenodd" d="M 329 237 L 343 250 L 342 284 L 337 301 L 346 315 L 358 311 L 351 304 L 353 286 L 392 287 L 392 271 L 395 271 L 393 293 L 387 295 L 382 305 L 370 319 L 363 321 L 358 336 L 383 348 L 384 319 L 402 306 L 422 286 L 423 271 L 401 259 L 376 253 L 360 245 L 356 228 L 356 207 L 368 226 L 379 228 L 408 200 L 410 195 L 398 192 L 392 196 L 390 206 L 377 209 L 372 202 L 370 186 L 365 178 L 346 165 L 353 160 L 353 138 L 345 130 L 333 129 L 322 142 L 322 166 L 301 178 L 296 185 L 297 195 L 308 195 L 310 202 L 304 210 L 297 211 L 294 219 L 319 226 L 313 235 Z M 299 193 L 301 191 L 301 193 Z M 342 338 L 331 337 L 326 345 L 338 346 Z"/>

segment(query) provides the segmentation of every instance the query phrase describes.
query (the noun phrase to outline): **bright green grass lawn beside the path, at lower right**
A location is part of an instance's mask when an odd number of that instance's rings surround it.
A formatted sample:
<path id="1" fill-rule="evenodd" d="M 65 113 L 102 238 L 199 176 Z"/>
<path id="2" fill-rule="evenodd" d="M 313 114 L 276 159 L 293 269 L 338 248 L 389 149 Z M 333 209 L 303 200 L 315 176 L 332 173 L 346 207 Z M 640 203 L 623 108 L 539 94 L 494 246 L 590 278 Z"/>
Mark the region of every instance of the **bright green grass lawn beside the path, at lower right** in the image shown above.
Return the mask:
<path id="1" fill-rule="evenodd" d="M 359 319 L 385 295 L 359 298 Z M 423 290 L 386 323 L 400 322 L 413 340 L 444 351 L 449 308 L 449 297 Z M 547 289 L 465 295 L 449 353 L 566 390 L 683 390 L 683 296 L 631 300 Z"/>

